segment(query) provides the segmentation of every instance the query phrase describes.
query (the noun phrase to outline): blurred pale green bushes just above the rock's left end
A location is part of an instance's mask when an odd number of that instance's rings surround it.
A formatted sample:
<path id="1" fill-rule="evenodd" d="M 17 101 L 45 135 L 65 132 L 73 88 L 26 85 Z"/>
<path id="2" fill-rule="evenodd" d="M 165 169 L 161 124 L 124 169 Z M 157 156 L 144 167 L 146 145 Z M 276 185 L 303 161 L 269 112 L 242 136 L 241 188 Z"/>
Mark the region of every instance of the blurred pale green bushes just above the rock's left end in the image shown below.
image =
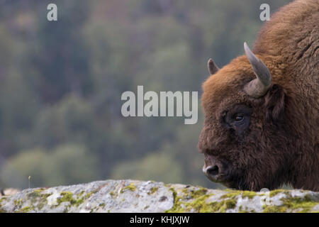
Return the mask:
<path id="1" fill-rule="evenodd" d="M 82 145 L 60 145 L 54 150 L 35 148 L 21 151 L 2 168 L 1 176 L 14 187 L 50 187 L 96 179 L 96 157 Z"/>

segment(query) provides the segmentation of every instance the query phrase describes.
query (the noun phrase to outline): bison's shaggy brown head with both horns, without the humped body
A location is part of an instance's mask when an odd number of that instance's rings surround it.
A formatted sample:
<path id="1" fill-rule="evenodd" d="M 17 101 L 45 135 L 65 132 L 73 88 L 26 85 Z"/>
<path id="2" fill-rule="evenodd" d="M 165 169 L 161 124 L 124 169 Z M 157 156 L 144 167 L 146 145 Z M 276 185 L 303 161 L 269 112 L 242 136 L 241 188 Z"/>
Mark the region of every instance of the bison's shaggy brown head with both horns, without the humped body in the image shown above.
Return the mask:
<path id="1" fill-rule="evenodd" d="M 211 76 L 203 84 L 205 121 L 198 143 L 203 172 L 231 188 L 274 189 L 285 182 L 293 156 L 282 121 L 285 92 L 272 82 L 271 58 L 260 56 L 267 67 L 244 47 L 246 55 L 220 70 L 208 61 Z"/>

